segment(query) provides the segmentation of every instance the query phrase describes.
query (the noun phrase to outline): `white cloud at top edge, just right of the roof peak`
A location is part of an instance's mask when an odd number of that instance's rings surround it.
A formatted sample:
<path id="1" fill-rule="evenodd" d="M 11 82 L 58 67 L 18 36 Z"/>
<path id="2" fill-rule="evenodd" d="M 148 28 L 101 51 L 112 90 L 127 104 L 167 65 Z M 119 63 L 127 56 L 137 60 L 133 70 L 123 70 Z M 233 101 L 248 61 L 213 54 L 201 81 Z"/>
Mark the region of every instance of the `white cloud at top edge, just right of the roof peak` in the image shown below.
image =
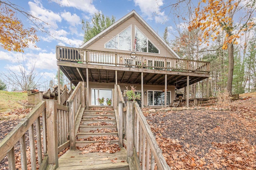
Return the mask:
<path id="1" fill-rule="evenodd" d="M 161 12 L 160 6 L 164 4 L 163 0 L 134 0 L 135 6 L 139 6 L 141 12 L 148 17 L 148 20 L 155 20 L 163 23 L 167 20 L 164 12 Z"/>

